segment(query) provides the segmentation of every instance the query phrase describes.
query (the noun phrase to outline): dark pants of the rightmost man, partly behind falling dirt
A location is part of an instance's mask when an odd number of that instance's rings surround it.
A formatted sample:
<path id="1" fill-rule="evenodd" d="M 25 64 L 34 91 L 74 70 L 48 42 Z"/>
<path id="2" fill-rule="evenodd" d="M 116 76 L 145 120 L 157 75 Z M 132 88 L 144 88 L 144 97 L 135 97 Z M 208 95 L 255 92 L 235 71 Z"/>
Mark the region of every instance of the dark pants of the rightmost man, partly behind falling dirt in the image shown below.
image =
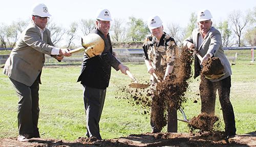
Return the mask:
<path id="1" fill-rule="evenodd" d="M 218 89 L 219 100 L 225 123 L 226 135 L 232 136 L 236 134 L 236 124 L 234 120 L 234 112 L 229 100 L 231 87 L 231 77 L 227 77 L 218 82 L 211 82 L 201 76 L 200 96 L 201 96 L 201 113 L 215 114 L 216 92 Z"/>

